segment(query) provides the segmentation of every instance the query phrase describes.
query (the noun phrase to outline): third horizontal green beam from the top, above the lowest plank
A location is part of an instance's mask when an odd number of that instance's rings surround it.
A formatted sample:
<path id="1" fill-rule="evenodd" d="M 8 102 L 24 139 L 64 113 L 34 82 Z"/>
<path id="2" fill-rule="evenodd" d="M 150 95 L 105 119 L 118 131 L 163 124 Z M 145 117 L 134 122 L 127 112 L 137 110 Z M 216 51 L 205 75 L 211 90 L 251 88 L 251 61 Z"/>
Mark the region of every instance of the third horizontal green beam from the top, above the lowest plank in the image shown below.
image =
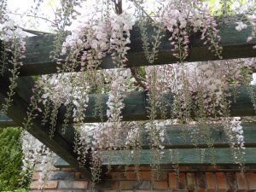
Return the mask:
<path id="1" fill-rule="evenodd" d="M 256 148 L 256 124 L 255 123 L 242 123 L 243 136 L 246 148 Z M 221 125 L 209 125 L 211 133 L 209 134 L 212 139 L 214 148 L 230 148 L 228 138 L 224 134 L 224 129 Z M 205 137 L 201 137 L 198 134 L 201 127 L 199 125 L 185 126 L 185 125 L 166 125 L 165 141 L 162 143 L 166 149 L 169 148 L 208 148 L 207 140 Z M 60 130 L 61 131 L 61 130 Z M 68 143 L 72 144 L 69 139 L 73 135 L 73 132 L 67 130 L 67 134 L 64 136 Z M 184 137 L 185 136 L 185 137 Z M 143 131 L 142 133 L 142 146 L 143 149 L 150 148 L 150 139 L 148 132 Z M 116 150 L 121 150 L 129 146 L 124 143 L 120 143 L 116 146 Z M 132 147 L 130 147 L 132 148 Z"/>

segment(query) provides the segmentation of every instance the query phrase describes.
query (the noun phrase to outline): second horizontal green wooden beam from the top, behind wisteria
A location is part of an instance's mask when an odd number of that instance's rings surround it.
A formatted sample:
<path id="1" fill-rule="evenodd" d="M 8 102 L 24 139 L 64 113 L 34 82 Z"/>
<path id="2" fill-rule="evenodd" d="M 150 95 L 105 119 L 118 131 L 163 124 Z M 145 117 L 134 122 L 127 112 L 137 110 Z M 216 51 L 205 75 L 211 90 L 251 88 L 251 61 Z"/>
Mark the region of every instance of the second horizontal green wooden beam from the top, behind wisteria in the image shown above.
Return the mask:
<path id="1" fill-rule="evenodd" d="M 253 90 L 256 93 L 256 86 L 253 86 Z M 236 102 L 232 102 L 230 105 L 230 116 L 255 116 L 256 112 L 253 108 L 253 103 L 251 102 L 250 96 L 247 93 L 247 89 L 245 87 L 240 87 L 236 95 Z M 166 95 L 167 103 L 166 103 L 166 117 L 170 118 L 172 116 L 172 93 Z M 102 95 L 102 113 L 103 119 L 107 120 L 107 104 L 108 95 Z M 92 123 L 92 122 L 101 122 L 101 116 L 95 115 L 95 103 L 96 96 L 90 95 L 89 104 L 85 111 L 84 122 Z M 122 110 L 122 116 L 124 121 L 132 121 L 132 120 L 147 120 L 148 112 L 147 107 L 147 96 L 145 96 L 144 92 L 131 92 L 127 93 L 127 96 L 124 100 L 125 108 Z M 60 108 L 60 113 L 58 115 L 58 119 L 60 122 L 63 122 L 64 113 L 66 109 L 62 106 Z M 193 114 L 191 114 L 193 116 Z M 155 119 L 161 118 L 160 110 L 156 113 Z M 73 124 L 73 119 L 70 119 L 70 124 Z"/>

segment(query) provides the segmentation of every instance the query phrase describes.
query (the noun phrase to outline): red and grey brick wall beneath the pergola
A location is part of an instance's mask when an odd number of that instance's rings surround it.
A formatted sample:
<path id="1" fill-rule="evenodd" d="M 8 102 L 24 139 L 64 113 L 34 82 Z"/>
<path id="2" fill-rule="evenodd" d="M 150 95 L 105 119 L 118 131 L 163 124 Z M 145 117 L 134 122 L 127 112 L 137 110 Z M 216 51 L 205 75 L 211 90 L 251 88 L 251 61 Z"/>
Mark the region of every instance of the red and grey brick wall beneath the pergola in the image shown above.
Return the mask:
<path id="1" fill-rule="evenodd" d="M 151 182 L 149 166 L 140 169 L 140 181 L 137 181 L 133 167 L 127 172 L 113 168 L 96 185 L 97 191 L 105 192 L 225 192 L 225 191 L 254 191 L 256 192 L 256 167 L 247 166 L 244 175 L 239 169 L 233 167 L 213 166 L 181 166 L 179 168 L 179 181 L 175 176 L 172 166 L 161 167 L 160 179 Z M 32 177 L 32 192 L 39 192 L 39 172 Z M 90 181 L 83 173 L 76 172 L 73 168 L 55 168 L 44 186 L 44 192 L 82 192 L 90 189 Z"/>

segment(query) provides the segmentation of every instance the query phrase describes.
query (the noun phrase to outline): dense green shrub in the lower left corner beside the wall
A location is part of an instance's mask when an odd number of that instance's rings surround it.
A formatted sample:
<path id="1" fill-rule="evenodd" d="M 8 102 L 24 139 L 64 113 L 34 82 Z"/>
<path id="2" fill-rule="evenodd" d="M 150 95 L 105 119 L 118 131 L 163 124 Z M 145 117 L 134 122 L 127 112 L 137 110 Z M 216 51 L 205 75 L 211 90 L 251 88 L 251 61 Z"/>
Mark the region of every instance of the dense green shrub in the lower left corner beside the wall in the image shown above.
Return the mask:
<path id="1" fill-rule="evenodd" d="M 26 191 L 21 182 L 22 149 L 19 128 L 0 128 L 0 191 Z M 24 186 L 20 186 L 22 185 Z"/>

